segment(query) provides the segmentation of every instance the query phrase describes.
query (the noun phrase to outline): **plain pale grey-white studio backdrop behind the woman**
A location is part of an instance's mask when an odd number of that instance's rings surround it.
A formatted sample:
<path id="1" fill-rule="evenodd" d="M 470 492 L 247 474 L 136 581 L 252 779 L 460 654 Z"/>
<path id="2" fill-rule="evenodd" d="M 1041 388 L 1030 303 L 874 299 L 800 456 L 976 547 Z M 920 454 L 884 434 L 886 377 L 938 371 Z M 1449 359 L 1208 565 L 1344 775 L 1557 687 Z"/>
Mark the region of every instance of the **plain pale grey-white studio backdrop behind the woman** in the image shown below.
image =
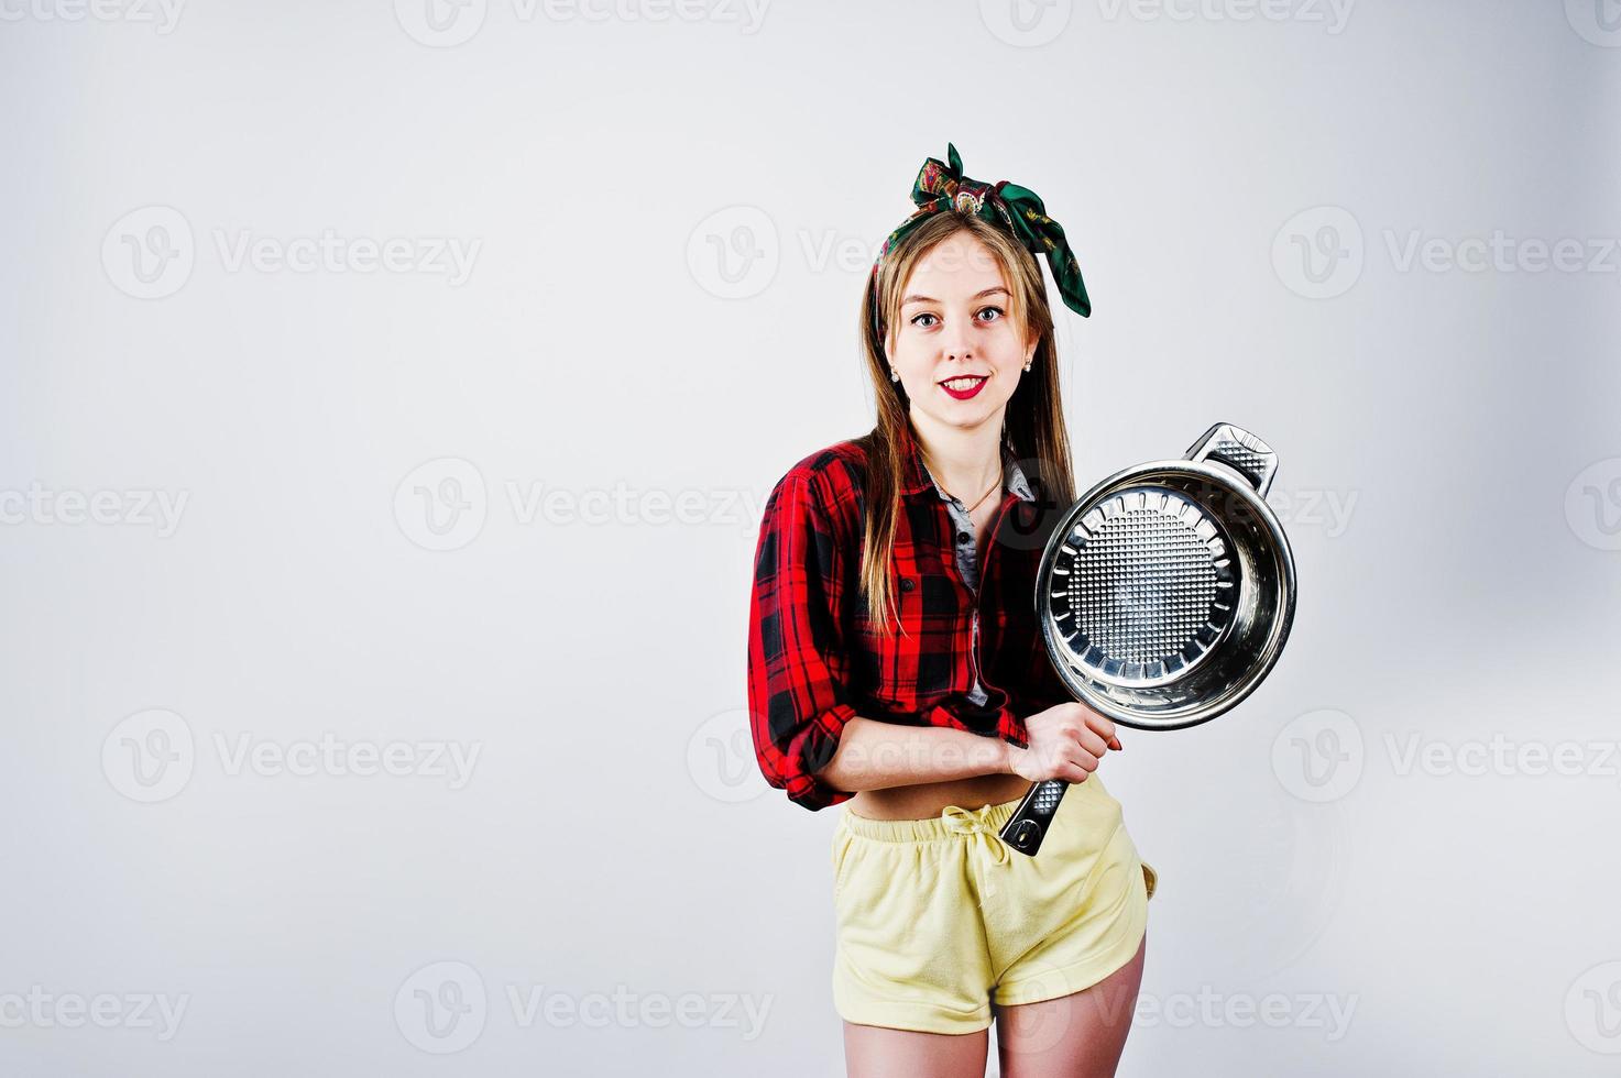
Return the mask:
<path id="1" fill-rule="evenodd" d="M 0 1070 L 841 1073 L 749 574 L 952 141 L 1080 481 L 1281 457 L 1122 1073 L 1615 1072 L 1615 0 L 428 3 L 0 3 Z"/>

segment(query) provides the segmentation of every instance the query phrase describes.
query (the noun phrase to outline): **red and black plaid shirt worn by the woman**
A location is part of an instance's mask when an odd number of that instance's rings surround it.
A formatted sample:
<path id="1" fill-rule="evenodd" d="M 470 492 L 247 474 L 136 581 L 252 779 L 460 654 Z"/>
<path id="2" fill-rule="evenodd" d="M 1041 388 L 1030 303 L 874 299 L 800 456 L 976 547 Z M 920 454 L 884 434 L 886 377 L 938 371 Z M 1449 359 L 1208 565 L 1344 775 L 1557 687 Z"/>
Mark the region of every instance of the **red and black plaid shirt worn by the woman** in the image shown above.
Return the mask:
<path id="1" fill-rule="evenodd" d="M 812 811 L 854 796 L 815 772 L 858 715 L 1026 747 L 1024 718 L 1075 699 L 1052 669 L 1034 611 L 1046 538 L 1068 506 L 1033 491 L 1003 449 L 1007 483 L 974 559 L 976 588 L 955 558 L 955 545 L 974 537 L 953 522 L 909 431 L 901 451 L 892 567 L 908 635 L 896 629 L 880 637 L 858 595 L 866 511 L 859 443 L 799 460 L 772 490 L 760 522 L 749 616 L 755 757 L 772 786 Z"/>

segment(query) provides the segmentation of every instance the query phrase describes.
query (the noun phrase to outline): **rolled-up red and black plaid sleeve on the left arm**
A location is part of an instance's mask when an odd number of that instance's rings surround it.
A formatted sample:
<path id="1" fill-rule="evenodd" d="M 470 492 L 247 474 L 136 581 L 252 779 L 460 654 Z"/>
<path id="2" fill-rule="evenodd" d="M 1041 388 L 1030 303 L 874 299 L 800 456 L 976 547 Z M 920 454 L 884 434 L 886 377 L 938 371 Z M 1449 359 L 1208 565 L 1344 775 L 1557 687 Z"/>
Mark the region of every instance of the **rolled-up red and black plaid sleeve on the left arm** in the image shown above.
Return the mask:
<path id="1" fill-rule="evenodd" d="M 765 780 L 810 811 L 856 796 L 815 773 L 856 717 L 840 621 L 846 563 L 815 473 L 794 468 L 765 501 L 754 554 L 749 725 Z"/>

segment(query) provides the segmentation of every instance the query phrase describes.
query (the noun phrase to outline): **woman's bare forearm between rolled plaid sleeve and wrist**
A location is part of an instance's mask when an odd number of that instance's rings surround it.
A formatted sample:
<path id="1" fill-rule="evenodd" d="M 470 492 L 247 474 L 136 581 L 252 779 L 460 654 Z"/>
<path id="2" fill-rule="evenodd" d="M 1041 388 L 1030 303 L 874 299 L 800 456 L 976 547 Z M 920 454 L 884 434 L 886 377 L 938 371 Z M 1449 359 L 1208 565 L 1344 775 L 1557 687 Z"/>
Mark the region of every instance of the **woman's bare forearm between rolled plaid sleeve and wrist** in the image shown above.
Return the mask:
<path id="1" fill-rule="evenodd" d="M 883 789 L 973 775 L 1012 773 L 1012 746 L 947 726 L 901 726 L 853 718 L 817 776 L 838 789 Z"/>

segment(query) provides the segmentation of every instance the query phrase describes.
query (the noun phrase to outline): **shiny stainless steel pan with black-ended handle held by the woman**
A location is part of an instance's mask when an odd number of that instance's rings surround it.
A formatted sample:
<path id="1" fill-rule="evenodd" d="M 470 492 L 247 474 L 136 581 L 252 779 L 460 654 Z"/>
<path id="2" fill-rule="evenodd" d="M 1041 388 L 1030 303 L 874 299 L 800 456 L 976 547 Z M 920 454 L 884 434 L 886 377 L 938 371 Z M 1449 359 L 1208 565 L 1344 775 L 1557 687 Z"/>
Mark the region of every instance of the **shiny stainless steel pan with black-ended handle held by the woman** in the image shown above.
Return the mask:
<path id="1" fill-rule="evenodd" d="M 1117 472 L 1057 522 L 1036 619 L 1070 692 L 1138 729 L 1180 729 L 1243 700 L 1295 613 L 1295 563 L 1266 504 L 1277 454 L 1216 423 L 1182 460 Z M 1034 854 L 1070 783 L 1034 783 L 1002 840 Z"/>

